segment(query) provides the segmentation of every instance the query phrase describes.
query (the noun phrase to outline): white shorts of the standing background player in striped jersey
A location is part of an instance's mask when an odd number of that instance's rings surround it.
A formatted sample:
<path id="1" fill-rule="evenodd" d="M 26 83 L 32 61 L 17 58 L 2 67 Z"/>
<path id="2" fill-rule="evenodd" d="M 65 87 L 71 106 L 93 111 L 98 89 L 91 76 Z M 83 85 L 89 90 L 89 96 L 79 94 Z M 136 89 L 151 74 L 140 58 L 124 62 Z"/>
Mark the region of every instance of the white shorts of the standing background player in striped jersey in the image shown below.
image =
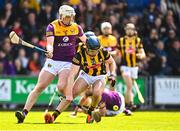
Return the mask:
<path id="1" fill-rule="evenodd" d="M 128 66 L 121 66 L 121 72 L 125 75 L 137 79 L 138 78 L 138 67 L 128 67 Z"/>

